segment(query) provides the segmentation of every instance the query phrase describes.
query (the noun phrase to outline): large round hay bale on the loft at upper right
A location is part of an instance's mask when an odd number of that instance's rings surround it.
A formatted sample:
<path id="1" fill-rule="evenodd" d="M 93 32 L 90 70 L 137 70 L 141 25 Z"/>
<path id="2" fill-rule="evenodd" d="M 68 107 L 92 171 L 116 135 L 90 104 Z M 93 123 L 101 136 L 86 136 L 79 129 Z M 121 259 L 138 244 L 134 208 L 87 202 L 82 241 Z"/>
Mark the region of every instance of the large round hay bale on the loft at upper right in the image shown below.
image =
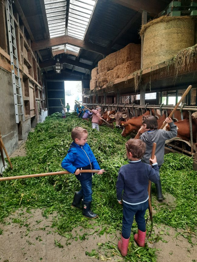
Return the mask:
<path id="1" fill-rule="evenodd" d="M 162 16 L 144 25 L 143 68 L 159 64 L 194 45 L 195 20 L 191 16 Z"/>

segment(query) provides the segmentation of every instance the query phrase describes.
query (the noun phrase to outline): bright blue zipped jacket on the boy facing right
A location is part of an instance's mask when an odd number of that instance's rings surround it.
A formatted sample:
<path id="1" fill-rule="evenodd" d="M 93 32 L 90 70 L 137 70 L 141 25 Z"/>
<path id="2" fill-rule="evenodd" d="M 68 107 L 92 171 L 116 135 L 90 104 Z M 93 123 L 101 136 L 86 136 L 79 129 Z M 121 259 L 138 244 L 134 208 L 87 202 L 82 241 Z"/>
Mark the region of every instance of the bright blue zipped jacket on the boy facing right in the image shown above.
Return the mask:
<path id="1" fill-rule="evenodd" d="M 74 143 L 74 141 L 71 143 L 68 153 L 62 161 L 62 167 L 70 173 L 74 173 L 78 168 L 101 169 L 88 143 L 80 146 Z M 84 180 L 91 176 L 92 173 L 80 173 L 76 178 L 78 180 Z"/>

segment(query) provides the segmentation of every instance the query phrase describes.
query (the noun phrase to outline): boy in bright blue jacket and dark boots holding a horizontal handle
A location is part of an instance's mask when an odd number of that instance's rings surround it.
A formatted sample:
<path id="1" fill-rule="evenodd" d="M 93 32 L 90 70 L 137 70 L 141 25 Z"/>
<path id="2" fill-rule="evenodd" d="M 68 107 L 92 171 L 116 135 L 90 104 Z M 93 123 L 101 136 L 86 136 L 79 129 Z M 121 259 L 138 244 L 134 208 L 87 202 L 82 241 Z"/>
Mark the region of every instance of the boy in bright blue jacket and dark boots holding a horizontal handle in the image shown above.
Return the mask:
<path id="1" fill-rule="evenodd" d="M 95 219 L 97 214 L 91 211 L 93 173 L 80 173 L 80 170 L 97 169 L 100 170 L 97 174 L 102 174 L 104 169 L 100 168 L 87 143 L 88 132 L 86 129 L 76 126 L 72 129 L 71 137 L 73 142 L 62 161 L 62 167 L 68 172 L 74 173 L 76 179 L 81 183 L 81 190 L 75 192 L 72 206 L 81 209 L 81 201 L 83 199 L 83 215 L 89 219 Z"/>

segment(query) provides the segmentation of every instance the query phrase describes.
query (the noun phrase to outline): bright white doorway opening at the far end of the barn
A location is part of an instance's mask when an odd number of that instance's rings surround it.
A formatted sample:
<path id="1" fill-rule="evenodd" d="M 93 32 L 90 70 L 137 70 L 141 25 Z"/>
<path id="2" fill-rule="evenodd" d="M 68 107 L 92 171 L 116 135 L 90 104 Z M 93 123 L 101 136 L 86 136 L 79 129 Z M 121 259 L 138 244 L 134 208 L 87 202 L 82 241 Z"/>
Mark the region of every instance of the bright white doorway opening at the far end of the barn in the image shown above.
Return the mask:
<path id="1" fill-rule="evenodd" d="M 75 100 L 82 103 L 82 81 L 64 81 L 65 104 L 69 103 L 70 112 L 74 111 Z"/>

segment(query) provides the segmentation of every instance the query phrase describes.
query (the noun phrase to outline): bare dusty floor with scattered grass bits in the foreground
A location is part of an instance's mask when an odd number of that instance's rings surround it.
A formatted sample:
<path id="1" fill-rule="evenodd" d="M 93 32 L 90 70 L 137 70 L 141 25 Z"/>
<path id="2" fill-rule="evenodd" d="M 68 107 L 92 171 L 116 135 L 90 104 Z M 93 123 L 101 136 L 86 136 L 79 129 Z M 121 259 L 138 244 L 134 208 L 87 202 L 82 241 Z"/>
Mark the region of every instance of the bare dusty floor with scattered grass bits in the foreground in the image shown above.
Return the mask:
<path id="1" fill-rule="evenodd" d="M 25 156 L 25 145 L 16 150 L 11 157 Z M 165 195 L 164 202 L 173 203 L 170 194 Z M 99 235 L 96 220 L 90 221 L 93 229 L 84 229 L 80 225 L 71 234 L 61 236 L 52 227 L 56 214 L 48 218 L 42 215 L 41 209 L 26 212 L 20 209 L 12 213 L 0 224 L 0 261 L 1 262 L 72 262 L 72 261 L 123 261 L 119 251 L 113 249 L 108 257 L 102 243 L 109 242 L 116 247 L 120 232 L 116 235 Z M 192 243 L 188 242 L 190 232 L 175 230 L 168 226 L 154 224 L 152 233 L 156 236 L 154 243 L 148 246 L 156 248 L 157 262 L 197 262 L 197 237 L 192 235 Z M 93 251 L 94 250 L 94 251 Z M 88 256 L 86 252 L 92 252 Z M 140 260 L 139 260 L 140 261 Z"/>

